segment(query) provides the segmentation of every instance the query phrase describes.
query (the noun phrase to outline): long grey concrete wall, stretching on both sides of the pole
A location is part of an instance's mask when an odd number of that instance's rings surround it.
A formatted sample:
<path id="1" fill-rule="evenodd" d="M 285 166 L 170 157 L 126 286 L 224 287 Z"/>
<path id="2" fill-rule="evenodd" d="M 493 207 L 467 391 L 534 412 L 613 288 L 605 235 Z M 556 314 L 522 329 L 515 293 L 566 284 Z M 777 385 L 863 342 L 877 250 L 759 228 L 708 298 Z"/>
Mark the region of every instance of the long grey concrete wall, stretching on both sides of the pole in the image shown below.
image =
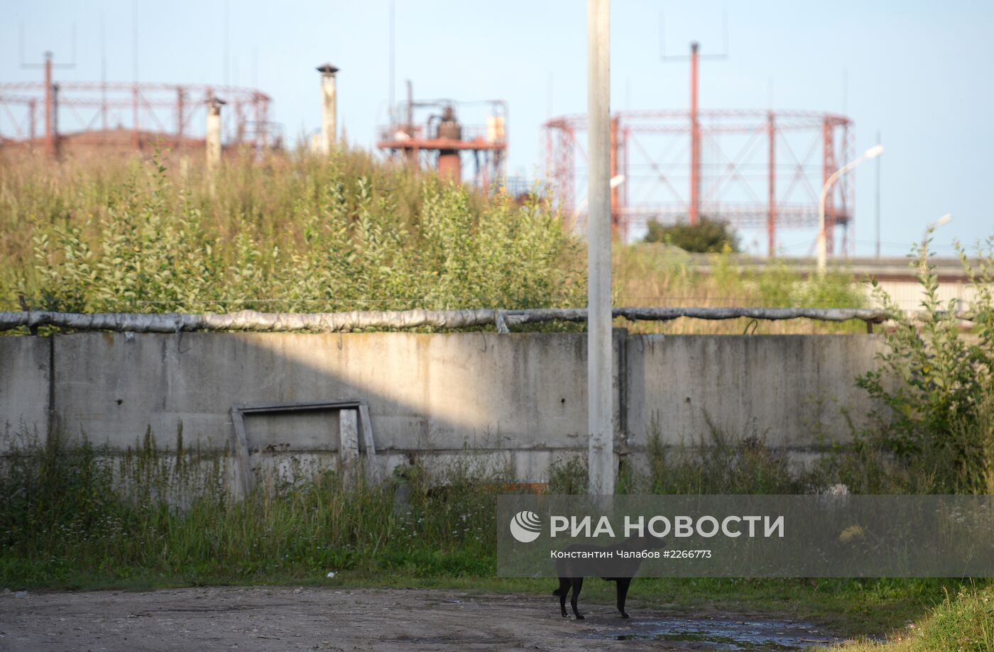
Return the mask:
<path id="1" fill-rule="evenodd" d="M 873 336 L 633 336 L 615 331 L 619 449 L 696 440 L 705 413 L 732 436 L 796 448 L 849 434 L 870 407 L 855 377 L 874 364 Z M 151 427 L 175 444 L 224 447 L 231 407 L 336 399 L 369 403 L 380 463 L 464 445 L 507 451 L 522 479 L 585 448 L 586 339 L 581 333 L 344 335 L 83 333 L 0 338 L 0 423 L 48 426 L 50 402 L 70 434 L 134 445 Z M 51 363 L 50 363 L 51 357 Z M 337 449 L 336 412 L 249 416 L 251 449 Z"/>

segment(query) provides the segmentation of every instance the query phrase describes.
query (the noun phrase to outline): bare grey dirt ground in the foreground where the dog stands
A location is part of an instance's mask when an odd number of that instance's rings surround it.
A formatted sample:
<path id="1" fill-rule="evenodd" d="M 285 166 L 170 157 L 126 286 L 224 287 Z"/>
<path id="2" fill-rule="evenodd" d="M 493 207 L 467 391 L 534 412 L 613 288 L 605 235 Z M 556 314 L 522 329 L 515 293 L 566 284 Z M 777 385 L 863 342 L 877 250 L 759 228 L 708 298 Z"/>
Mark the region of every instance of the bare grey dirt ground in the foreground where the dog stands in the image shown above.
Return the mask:
<path id="1" fill-rule="evenodd" d="M 609 605 L 580 600 L 580 607 L 582 621 L 563 618 L 552 595 L 292 587 L 8 592 L 0 595 L 0 650 L 728 650 L 832 640 L 790 621 L 667 620 L 636 604 L 628 607 L 631 619 L 621 620 Z M 721 635 L 686 633 L 695 627 Z M 792 638 L 739 641 L 743 627 Z"/>

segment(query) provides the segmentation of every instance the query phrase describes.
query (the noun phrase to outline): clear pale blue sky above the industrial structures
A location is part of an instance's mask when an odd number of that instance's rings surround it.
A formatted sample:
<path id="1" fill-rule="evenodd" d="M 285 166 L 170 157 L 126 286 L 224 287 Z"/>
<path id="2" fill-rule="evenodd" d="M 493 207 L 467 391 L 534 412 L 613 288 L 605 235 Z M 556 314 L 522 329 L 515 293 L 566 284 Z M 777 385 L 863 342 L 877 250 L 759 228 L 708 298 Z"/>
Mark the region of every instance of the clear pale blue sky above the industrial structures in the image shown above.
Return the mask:
<path id="1" fill-rule="evenodd" d="M 668 53 L 698 40 L 721 47 L 727 9 L 731 57 L 702 64 L 703 108 L 845 109 L 856 123 L 856 150 L 881 130 L 885 254 L 903 254 L 944 213 L 937 236 L 972 242 L 994 234 L 983 194 L 994 154 L 994 3 L 943 2 L 649 2 L 613 0 L 612 106 L 685 108 L 688 71 L 659 61 L 659 16 Z M 132 79 L 130 0 L 32 0 L 0 3 L 0 81 L 36 80 L 21 70 L 19 31 L 32 61 L 53 50 L 77 68 L 64 80 L 99 80 L 100 26 L 107 78 Z M 142 81 L 225 81 L 225 0 L 138 2 Z M 273 119 L 291 138 L 319 126 L 319 74 L 339 73 L 339 121 L 350 141 L 371 146 L 385 122 L 389 92 L 388 0 L 262 2 L 230 0 L 229 80 L 257 85 L 274 99 Z M 510 103 L 511 174 L 543 169 L 540 124 L 585 109 L 585 2 L 397 0 L 396 95 L 414 81 L 418 97 L 503 98 Z M 257 61 L 257 67 L 254 62 Z M 550 79 L 552 92 L 550 93 Z M 844 79 L 848 79 L 844 83 Z M 857 253 L 872 253 L 874 167 L 857 171 Z M 786 230 L 788 254 L 804 254 L 813 230 Z M 745 244 L 763 243 L 745 233 Z M 759 246 L 756 245 L 757 250 Z"/>

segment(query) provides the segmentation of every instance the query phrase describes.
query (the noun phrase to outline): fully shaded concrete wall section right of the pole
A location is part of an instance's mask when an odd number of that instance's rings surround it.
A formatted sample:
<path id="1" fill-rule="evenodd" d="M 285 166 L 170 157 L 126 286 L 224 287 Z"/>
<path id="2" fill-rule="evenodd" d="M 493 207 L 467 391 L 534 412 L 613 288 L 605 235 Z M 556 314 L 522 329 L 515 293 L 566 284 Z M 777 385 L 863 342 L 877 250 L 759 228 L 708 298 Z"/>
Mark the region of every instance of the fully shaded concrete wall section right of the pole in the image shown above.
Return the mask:
<path id="1" fill-rule="evenodd" d="M 631 444 L 655 419 L 665 443 L 693 443 L 712 425 L 733 437 L 809 448 L 843 441 L 873 407 L 856 387 L 882 341 L 874 336 L 646 335 L 628 342 Z M 708 420 L 711 423 L 708 423 Z"/>

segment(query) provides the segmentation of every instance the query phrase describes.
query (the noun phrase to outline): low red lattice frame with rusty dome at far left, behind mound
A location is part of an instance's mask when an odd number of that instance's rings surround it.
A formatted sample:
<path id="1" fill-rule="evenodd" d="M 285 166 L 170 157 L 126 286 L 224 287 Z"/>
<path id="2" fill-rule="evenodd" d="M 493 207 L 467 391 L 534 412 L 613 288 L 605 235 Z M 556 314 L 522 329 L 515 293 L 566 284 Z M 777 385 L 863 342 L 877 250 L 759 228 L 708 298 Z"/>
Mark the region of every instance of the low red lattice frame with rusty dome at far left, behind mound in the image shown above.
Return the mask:
<path id="1" fill-rule="evenodd" d="M 269 120 L 271 99 L 233 85 L 136 81 L 56 81 L 46 53 L 44 81 L 0 82 L 0 146 L 27 146 L 57 156 L 65 150 L 135 152 L 205 147 L 208 111 L 223 98 L 226 145 L 281 146 Z"/>

